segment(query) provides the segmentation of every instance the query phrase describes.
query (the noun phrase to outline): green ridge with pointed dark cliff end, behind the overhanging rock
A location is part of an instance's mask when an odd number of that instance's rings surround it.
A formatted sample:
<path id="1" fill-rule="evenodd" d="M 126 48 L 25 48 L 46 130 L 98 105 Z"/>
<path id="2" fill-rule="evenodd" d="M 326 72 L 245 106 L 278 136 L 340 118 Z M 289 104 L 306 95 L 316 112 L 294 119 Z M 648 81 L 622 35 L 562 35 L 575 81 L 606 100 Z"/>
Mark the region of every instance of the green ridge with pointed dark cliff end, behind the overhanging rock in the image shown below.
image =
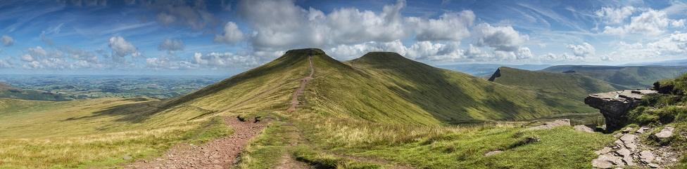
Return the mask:
<path id="1" fill-rule="evenodd" d="M 510 67 L 499 67 L 489 78 L 489 81 L 565 97 L 578 101 L 579 104 L 584 104 L 582 101 L 589 93 L 625 89 L 623 86 L 581 74 L 529 71 Z"/>

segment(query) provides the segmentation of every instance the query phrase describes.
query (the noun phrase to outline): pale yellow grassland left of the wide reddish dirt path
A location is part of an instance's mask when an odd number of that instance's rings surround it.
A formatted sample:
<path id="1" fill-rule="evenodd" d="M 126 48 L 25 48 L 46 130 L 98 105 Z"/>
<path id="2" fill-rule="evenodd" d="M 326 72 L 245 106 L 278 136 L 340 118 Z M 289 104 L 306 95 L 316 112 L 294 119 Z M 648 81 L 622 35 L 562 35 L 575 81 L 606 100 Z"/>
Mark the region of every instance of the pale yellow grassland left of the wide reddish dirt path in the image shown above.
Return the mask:
<path id="1" fill-rule="evenodd" d="M 91 168 L 126 163 L 124 156 L 159 156 L 180 142 L 206 142 L 231 134 L 218 118 L 166 116 L 131 123 L 93 116 L 103 109 L 151 101 L 95 99 L 39 102 L 2 99 L 0 168 Z M 28 107 L 23 109 L 23 107 Z M 183 110 L 183 109 L 182 109 Z M 132 112 L 136 113 L 136 112 Z M 177 115 L 201 113 L 175 111 Z"/>

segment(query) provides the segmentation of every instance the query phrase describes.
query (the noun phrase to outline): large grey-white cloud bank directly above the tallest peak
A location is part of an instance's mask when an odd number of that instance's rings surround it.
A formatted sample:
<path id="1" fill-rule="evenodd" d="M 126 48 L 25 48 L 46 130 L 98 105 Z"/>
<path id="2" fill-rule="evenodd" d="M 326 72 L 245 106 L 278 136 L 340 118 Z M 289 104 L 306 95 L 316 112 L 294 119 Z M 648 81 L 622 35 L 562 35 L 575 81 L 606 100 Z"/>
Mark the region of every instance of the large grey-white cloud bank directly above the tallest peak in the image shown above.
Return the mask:
<path id="1" fill-rule="evenodd" d="M 327 47 L 339 44 L 389 42 L 408 36 L 401 9 L 405 1 L 384 6 L 382 12 L 337 8 L 325 15 L 293 1 L 241 1 L 239 14 L 253 27 L 258 49 Z"/>

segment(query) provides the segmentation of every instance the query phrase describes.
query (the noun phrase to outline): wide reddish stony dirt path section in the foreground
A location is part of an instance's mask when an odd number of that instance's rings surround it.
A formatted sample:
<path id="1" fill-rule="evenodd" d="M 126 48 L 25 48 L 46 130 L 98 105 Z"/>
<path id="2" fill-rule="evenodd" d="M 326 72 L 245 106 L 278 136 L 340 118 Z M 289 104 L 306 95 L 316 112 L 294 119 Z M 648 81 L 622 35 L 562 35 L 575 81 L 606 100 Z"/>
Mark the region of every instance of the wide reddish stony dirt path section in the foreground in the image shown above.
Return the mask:
<path id="1" fill-rule="evenodd" d="M 243 122 L 229 117 L 225 121 L 234 128 L 234 134 L 229 137 L 213 140 L 199 147 L 180 144 L 161 158 L 137 161 L 125 168 L 229 168 L 236 163 L 236 158 L 248 141 L 265 128 L 265 124 Z"/>

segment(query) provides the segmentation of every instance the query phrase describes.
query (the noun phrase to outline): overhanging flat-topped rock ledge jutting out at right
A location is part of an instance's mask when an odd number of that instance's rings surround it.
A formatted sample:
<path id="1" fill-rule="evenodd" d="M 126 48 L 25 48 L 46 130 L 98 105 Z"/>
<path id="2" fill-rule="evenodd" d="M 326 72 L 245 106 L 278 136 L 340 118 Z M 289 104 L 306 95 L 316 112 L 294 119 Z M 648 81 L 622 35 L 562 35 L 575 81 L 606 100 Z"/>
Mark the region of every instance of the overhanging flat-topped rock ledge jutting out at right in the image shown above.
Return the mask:
<path id="1" fill-rule="evenodd" d="M 657 93 L 655 90 L 622 90 L 591 94 L 584 103 L 599 109 L 606 120 L 606 131 L 614 131 L 625 125 L 627 112 L 637 107 L 642 97 Z"/>

